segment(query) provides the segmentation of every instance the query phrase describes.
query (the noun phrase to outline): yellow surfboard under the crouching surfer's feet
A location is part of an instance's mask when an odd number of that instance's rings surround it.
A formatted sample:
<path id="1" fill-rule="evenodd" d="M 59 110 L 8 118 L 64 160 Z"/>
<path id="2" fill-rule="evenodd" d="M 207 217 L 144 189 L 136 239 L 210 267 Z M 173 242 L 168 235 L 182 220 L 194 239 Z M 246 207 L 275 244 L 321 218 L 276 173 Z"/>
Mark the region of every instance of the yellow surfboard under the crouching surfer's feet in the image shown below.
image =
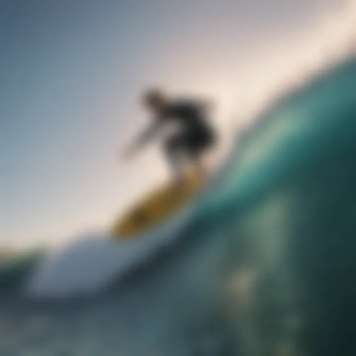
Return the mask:
<path id="1" fill-rule="evenodd" d="M 159 226 L 191 201 L 204 181 L 198 175 L 189 175 L 179 187 L 170 181 L 156 188 L 119 217 L 112 229 L 114 236 L 130 239 Z"/>

